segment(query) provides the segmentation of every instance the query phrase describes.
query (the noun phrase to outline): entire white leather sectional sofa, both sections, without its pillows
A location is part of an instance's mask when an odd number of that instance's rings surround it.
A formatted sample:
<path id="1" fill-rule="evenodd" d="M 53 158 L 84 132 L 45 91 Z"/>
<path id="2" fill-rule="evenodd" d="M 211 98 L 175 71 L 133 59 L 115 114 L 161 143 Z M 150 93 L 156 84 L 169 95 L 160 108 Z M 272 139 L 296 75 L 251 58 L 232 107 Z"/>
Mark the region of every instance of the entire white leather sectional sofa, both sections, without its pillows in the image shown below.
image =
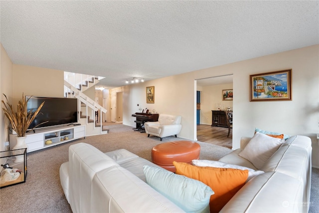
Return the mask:
<path id="1" fill-rule="evenodd" d="M 248 138 L 243 138 L 241 148 Z M 221 212 L 308 212 L 311 183 L 311 140 L 293 136 L 264 165 L 262 175 L 248 181 Z M 252 169 L 239 150 L 220 159 Z M 61 185 L 74 213 L 183 212 L 145 182 L 143 166 L 157 165 L 130 153 L 102 153 L 79 143 L 69 148 L 60 167 Z"/>

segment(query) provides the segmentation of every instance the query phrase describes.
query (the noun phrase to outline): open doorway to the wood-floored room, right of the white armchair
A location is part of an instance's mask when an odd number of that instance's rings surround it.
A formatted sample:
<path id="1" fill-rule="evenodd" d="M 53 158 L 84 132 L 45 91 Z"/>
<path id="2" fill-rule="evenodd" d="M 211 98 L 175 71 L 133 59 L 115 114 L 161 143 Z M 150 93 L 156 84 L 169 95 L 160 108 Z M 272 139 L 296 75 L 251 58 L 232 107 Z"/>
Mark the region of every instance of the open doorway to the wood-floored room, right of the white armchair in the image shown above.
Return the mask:
<path id="1" fill-rule="evenodd" d="M 195 138 L 197 141 L 232 148 L 232 130 L 213 125 L 213 111 L 233 110 L 232 100 L 223 100 L 223 90 L 233 89 L 233 74 L 195 79 Z M 198 94 L 200 98 L 198 98 Z M 199 103 L 198 103 L 199 101 Z M 198 110 L 199 109 L 199 110 Z M 222 113 L 222 112 L 221 112 Z M 198 118 L 199 116 L 199 118 Z"/>

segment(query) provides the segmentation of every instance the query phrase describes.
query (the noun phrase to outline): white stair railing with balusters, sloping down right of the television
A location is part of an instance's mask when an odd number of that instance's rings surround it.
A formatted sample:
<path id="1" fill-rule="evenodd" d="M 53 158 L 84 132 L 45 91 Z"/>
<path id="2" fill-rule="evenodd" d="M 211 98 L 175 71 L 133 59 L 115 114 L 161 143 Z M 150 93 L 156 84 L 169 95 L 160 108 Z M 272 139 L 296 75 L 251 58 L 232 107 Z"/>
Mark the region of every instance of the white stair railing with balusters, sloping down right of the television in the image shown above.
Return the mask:
<path id="1" fill-rule="evenodd" d="M 100 110 L 101 112 L 101 116 L 100 116 L 100 132 L 102 133 L 102 113 L 106 113 L 107 109 L 105 109 L 104 107 L 102 107 L 101 105 L 99 105 L 98 103 L 96 103 L 94 100 L 92 100 L 90 97 L 88 97 L 87 95 L 85 95 L 83 92 L 79 91 L 76 87 L 74 87 L 73 85 L 71 85 L 69 82 L 67 82 L 66 80 L 64 80 L 64 86 L 66 86 L 68 89 L 71 90 L 71 92 L 74 92 L 74 97 L 76 97 L 79 101 L 78 104 L 78 118 L 80 118 L 80 111 L 81 111 L 81 102 L 85 104 L 86 106 L 86 124 L 88 124 L 88 107 L 91 108 L 92 113 L 91 113 L 91 117 L 94 118 L 94 128 L 95 128 L 95 112 Z"/>

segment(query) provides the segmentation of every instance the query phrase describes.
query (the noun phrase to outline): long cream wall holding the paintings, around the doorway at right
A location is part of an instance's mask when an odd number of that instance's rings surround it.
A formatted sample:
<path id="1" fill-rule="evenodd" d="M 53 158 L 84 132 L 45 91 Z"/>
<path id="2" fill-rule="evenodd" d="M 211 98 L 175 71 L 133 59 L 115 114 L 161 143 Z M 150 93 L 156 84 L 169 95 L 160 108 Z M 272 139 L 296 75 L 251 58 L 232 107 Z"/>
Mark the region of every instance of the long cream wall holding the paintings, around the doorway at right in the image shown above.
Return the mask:
<path id="1" fill-rule="evenodd" d="M 135 126 L 131 115 L 142 108 L 182 116 L 179 137 L 196 139 L 195 79 L 233 74 L 233 149 L 255 127 L 288 135 L 305 135 L 313 142 L 313 165 L 319 167 L 319 45 L 197 70 L 125 87 L 123 124 Z M 292 69 L 292 101 L 249 101 L 249 75 Z M 155 103 L 146 104 L 146 86 L 155 86 Z"/>

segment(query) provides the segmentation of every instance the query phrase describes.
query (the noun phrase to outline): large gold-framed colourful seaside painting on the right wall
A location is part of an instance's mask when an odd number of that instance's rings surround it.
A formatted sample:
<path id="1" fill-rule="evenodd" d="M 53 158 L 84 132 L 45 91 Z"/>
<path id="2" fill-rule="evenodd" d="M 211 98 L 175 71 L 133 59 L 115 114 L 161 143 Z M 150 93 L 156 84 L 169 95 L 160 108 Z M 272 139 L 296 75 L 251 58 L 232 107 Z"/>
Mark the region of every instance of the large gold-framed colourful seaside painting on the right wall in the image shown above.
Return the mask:
<path id="1" fill-rule="evenodd" d="M 291 101 L 292 70 L 250 75 L 250 101 Z"/>

